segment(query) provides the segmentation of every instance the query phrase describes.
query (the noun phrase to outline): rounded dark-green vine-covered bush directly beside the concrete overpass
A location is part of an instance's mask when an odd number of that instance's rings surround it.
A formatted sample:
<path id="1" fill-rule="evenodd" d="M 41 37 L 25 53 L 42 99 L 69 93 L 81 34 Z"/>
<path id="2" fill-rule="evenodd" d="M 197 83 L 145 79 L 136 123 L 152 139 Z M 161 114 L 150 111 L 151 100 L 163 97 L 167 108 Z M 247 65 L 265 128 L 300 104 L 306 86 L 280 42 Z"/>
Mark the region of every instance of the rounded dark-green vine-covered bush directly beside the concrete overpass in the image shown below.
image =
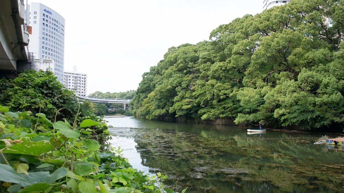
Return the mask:
<path id="1" fill-rule="evenodd" d="M 53 120 L 74 117 L 79 102 L 74 93 L 56 80 L 51 71 L 24 71 L 18 78 L 0 81 L 0 104 L 11 106 L 12 111 L 44 113 Z"/>

